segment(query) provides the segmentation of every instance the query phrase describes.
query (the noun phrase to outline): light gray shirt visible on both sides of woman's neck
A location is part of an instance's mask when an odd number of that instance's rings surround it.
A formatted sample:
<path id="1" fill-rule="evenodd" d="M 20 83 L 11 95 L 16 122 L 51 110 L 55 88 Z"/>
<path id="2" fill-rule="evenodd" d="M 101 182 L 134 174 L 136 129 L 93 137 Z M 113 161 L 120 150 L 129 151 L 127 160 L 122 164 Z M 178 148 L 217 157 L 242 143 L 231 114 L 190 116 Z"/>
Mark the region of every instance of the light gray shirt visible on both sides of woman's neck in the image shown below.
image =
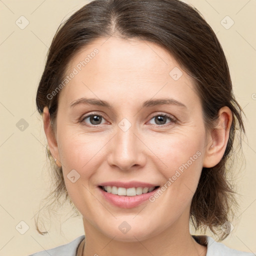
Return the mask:
<path id="1" fill-rule="evenodd" d="M 231 249 L 223 243 L 216 242 L 212 237 L 207 237 L 207 253 L 206 256 L 255 256 L 254 253 L 242 252 Z M 76 250 L 80 242 L 84 239 L 81 235 L 67 244 L 63 244 L 52 249 L 35 252 L 29 256 L 75 256 Z"/>

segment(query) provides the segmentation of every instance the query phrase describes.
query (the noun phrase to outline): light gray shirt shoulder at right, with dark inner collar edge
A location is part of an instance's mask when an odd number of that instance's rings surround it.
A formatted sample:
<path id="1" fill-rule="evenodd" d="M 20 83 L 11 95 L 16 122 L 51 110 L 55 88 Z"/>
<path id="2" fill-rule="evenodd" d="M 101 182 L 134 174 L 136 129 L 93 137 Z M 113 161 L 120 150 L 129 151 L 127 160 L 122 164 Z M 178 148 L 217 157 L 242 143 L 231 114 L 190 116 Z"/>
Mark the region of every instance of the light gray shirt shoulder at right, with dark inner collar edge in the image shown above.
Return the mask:
<path id="1" fill-rule="evenodd" d="M 196 240 L 204 240 L 206 238 L 207 252 L 206 256 L 254 256 L 255 254 L 243 252 L 227 247 L 221 242 L 216 242 L 212 237 L 207 235 L 193 235 Z"/>

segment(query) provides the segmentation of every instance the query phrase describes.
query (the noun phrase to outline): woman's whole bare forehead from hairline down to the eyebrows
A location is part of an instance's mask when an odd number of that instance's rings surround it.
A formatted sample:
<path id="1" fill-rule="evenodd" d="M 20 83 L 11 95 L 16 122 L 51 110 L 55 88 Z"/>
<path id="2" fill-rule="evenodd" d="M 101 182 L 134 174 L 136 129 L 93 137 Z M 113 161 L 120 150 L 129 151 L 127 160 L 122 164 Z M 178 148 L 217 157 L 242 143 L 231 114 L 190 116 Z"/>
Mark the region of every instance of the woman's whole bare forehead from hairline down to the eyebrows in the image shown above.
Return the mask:
<path id="1" fill-rule="evenodd" d="M 171 94 L 179 100 L 198 100 L 192 78 L 163 47 L 140 39 L 97 38 L 70 60 L 66 75 L 72 78 L 61 97 L 70 103 L 89 96 L 139 100 L 142 96 Z M 83 94 L 83 95 L 82 95 Z"/>

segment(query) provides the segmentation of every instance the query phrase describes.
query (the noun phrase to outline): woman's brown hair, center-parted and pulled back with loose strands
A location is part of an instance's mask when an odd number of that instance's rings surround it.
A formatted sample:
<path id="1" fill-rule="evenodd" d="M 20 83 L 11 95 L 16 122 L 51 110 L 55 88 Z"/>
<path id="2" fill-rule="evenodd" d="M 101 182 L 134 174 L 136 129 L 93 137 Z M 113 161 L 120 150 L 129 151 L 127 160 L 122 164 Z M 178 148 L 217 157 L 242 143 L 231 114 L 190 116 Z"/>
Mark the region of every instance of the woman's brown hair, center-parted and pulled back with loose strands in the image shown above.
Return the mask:
<path id="1" fill-rule="evenodd" d="M 208 227 L 220 239 L 224 239 L 228 232 L 223 231 L 222 225 L 233 217 L 232 206 L 237 206 L 234 189 L 226 176 L 230 170 L 227 160 L 234 151 L 235 129 L 240 131 L 240 146 L 245 130 L 242 109 L 233 95 L 222 47 L 196 8 L 179 0 L 94 0 L 84 5 L 58 27 L 52 40 L 37 89 L 37 110 L 42 114 L 43 107 L 49 107 L 52 128 L 55 130 L 59 93 L 52 96 L 51 92 L 63 80 L 70 59 L 94 39 L 107 38 L 113 33 L 125 39 L 154 42 L 174 56 L 193 77 L 206 128 L 214 128 L 221 107 L 231 109 L 233 118 L 224 155 L 214 167 L 202 168 L 190 207 L 195 229 L 205 231 Z M 47 96 L 49 94 L 50 97 Z M 54 188 L 46 198 L 54 199 L 56 203 L 63 197 L 64 201 L 68 199 L 72 204 L 62 169 L 52 161 L 48 149 L 47 153 L 53 169 Z M 76 210 L 74 206 L 73 209 Z M 37 223 L 36 227 L 40 232 Z"/>

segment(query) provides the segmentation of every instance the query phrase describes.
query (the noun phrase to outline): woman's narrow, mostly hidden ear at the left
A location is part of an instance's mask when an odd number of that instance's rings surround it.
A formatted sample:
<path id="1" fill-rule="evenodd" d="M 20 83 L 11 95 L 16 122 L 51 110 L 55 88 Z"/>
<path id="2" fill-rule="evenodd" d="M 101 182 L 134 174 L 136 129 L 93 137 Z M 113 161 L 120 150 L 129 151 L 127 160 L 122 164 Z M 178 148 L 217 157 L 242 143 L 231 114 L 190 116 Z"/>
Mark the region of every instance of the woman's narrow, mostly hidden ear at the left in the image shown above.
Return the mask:
<path id="1" fill-rule="evenodd" d="M 44 133 L 47 138 L 48 146 L 50 153 L 52 157 L 54 158 L 56 164 L 58 167 L 61 166 L 60 160 L 59 160 L 59 152 L 58 152 L 58 146 L 57 141 L 55 138 L 55 134 L 53 131 L 53 128 L 50 123 L 50 115 L 49 115 L 49 109 L 47 106 L 43 108 L 43 129 Z"/>

